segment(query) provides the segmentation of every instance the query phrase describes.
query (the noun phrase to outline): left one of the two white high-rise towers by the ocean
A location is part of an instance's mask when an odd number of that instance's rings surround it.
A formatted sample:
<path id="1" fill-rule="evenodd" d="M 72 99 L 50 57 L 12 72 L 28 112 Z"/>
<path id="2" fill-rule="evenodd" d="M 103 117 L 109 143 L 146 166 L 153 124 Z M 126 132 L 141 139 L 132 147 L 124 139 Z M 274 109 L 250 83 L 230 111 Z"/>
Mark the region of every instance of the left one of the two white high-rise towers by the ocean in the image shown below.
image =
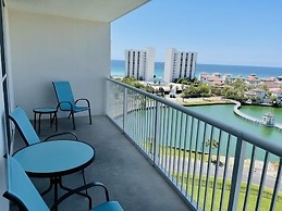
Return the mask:
<path id="1" fill-rule="evenodd" d="M 155 71 L 155 48 L 125 50 L 125 76 L 139 80 L 152 80 Z"/>

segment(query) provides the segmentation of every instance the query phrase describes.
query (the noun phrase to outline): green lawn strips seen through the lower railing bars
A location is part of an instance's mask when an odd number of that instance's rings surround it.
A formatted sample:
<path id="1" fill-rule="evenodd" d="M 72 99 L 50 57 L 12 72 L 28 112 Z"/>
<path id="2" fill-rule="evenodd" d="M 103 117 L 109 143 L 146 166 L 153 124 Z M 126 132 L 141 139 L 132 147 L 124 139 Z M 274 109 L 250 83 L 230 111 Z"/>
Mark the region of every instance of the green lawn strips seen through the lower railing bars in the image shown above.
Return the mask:
<path id="1" fill-rule="evenodd" d="M 150 146 L 148 146 L 148 145 L 147 145 L 147 147 L 148 147 L 147 149 L 150 148 Z M 176 148 L 172 148 L 172 147 L 161 147 L 160 154 L 168 156 L 168 157 L 175 157 L 175 158 L 186 158 L 186 159 L 188 159 L 191 156 L 192 160 L 196 160 L 196 159 L 200 160 L 203 157 L 201 153 L 197 153 L 197 154 L 195 152 L 189 153 L 189 151 L 185 151 L 183 149 L 176 149 Z M 208 161 L 208 154 L 204 156 L 204 161 L 205 162 Z M 195 201 L 198 201 L 198 204 L 200 208 L 204 208 L 205 191 L 207 191 L 206 210 L 211 210 L 212 198 L 213 198 L 213 210 L 220 209 L 220 204 L 221 204 L 220 200 L 221 200 L 221 195 L 222 195 L 222 189 L 223 189 L 223 178 L 217 179 L 214 197 L 212 197 L 213 185 L 214 185 L 213 177 L 209 177 L 209 183 L 206 187 L 207 178 L 206 178 L 206 176 L 203 176 L 201 184 L 199 187 L 199 175 L 196 175 L 194 186 L 192 186 L 193 179 L 194 179 L 192 174 L 189 174 L 189 178 L 187 178 L 187 174 L 181 175 L 177 177 L 177 173 L 174 172 L 173 175 L 174 175 L 174 179 L 177 181 L 181 186 L 183 186 L 185 191 L 187 191 L 187 195 L 192 196 L 192 187 L 194 187 L 193 199 Z M 247 187 L 247 184 L 245 182 L 241 183 L 237 210 L 243 210 L 245 195 L 246 195 L 246 187 Z M 200 194 L 198 196 L 199 188 L 200 188 Z M 231 179 L 226 178 L 225 193 L 224 193 L 224 198 L 223 198 L 223 202 L 222 202 L 222 206 L 223 206 L 222 210 L 228 210 L 230 189 L 231 189 Z M 247 210 L 255 210 L 256 203 L 257 203 L 258 191 L 259 191 L 259 186 L 252 184 L 250 191 L 248 195 Z M 268 188 L 268 187 L 263 188 L 259 210 L 270 210 L 272 195 L 273 195 L 272 188 Z M 279 210 L 279 208 L 282 208 L 282 193 L 281 191 L 278 195 L 275 208 L 277 208 L 277 210 Z"/>

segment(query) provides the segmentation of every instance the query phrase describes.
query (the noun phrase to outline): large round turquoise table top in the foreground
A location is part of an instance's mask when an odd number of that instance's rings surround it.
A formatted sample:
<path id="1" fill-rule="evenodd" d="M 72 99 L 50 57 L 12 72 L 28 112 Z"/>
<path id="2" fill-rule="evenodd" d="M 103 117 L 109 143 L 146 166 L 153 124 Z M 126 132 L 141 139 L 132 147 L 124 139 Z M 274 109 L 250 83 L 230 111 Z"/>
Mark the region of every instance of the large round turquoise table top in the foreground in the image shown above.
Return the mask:
<path id="1" fill-rule="evenodd" d="M 95 149 L 79 140 L 49 140 L 16 151 L 13 157 L 29 176 L 63 176 L 88 166 Z"/>

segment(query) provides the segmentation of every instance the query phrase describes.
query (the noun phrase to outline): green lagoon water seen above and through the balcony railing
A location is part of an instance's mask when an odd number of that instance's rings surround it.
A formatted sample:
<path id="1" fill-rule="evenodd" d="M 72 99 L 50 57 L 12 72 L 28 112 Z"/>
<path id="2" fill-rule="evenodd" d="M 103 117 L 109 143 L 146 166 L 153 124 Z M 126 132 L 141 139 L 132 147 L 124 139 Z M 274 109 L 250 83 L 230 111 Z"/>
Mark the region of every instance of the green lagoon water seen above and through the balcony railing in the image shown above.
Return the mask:
<path id="1" fill-rule="evenodd" d="M 282 131 L 277 128 L 271 128 L 263 126 L 261 124 L 256 124 L 250 121 L 247 121 L 243 117 L 237 116 L 233 112 L 234 104 L 214 104 L 214 105 L 195 105 L 195 107 L 187 107 L 187 109 L 193 110 L 195 112 L 199 112 L 201 114 L 205 114 L 211 119 L 217 119 L 218 121 L 222 122 L 223 124 L 228 124 L 232 127 L 235 127 L 242 132 L 254 134 L 255 136 L 260 136 L 269 141 L 272 142 L 281 142 L 282 145 Z M 277 121 L 279 123 L 282 123 L 282 109 L 281 108 L 270 108 L 270 107 L 255 107 L 255 105 L 245 105 L 242 107 L 242 111 L 246 112 L 249 115 L 254 115 L 256 117 L 262 117 L 265 113 L 271 112 L 275 115 Z M 140 111 L 138 111 L 140 112 Z M 143 112 L 138 120 L 138 125 L 146 125 L 146 128 L 142 128 L 140 131 L 154 131 L 155 127 L 154 122 L 151 120 L 148 120 L 148 116 L 151 116 L 151 112 L 155 112 L 154 110 L 147 110 L 146 112 Z M 146 114 L 147 113 L 147 114 Z M 207 139 L 221 139 L 220 144 L 220 156 L 226 154 L 226 145 L 228 145 L 228 134 L 222 133 L 220 138 L 219 129 L 213 129 L 211 132 L 211 127 L 208 126 L 206 128 L 206 132 L 204 132 L 205 124 L 203 122 L 199 123 L 199 127 L 197 126 L 197 122 L 192 120 L 187 120 L 188 122 L 185 122 L 185 120 L 182 119 L 175 119 L 175 111 L 174 111 L 174 117 L 172 117 L 168 111 L 168 109 L 163 108 L 162 115 L 161 115 L 161 140 L 160 144 L 163 146 L 173 146 L 173 147 L 180 147 L 180 148 L 186 148 L 192 150 L 208 152 L 208 148 L 205 147 L 203 149 L 203 141 L 206 141 Z M 133 113 L 128 115 L 128 125 L 135 125 L 136 116 Z M 188 126 L 192 129 L 186 129 L 185 125 L 193 125 Z M 198 134 L 196 133 L 198 127 Z M 139 128 L 138 128 L 139 129 Z M 145 133 L 146 134 L 146 133 Z M 204 135 L 205 134 L 205 135 Z M 211 135 L 212 134 L 212 135 Z M 136 134 L 132 134 L 133 136 L 136 136 Z M 205 136 L 205 137 L 204 137 Z M 211 137 L 212 136 L 212 137 Z M 148 139 L 146 135 L 142 135 L 139 137 L 140 139 Z M 187 141 L 188 140 L 188 141 Z M 189 141 L 192 140 L 192 141 Z M 196 144 L 197 142 L 197 144 Z M 236 144 L 236 137 L 232 136 L 230 141 L 230 156 L 234 157 L 235 153 L 235 144 Z M 191 145 L 191 146 L 189 146 Z M 197 147 L 197 146 L 198 147 Z M 246 158 L 250 158 L 252 154 L 252 145 L 247 144 L 246 146 Z M 212 149 L 212 153 L 217 153 L 217 149 Z M 266 151 L 262 149 L 257 149 L 256 160 L 263 161 Z M 271 156 L 270 161 L 278 161 L 279 158 Z"/>

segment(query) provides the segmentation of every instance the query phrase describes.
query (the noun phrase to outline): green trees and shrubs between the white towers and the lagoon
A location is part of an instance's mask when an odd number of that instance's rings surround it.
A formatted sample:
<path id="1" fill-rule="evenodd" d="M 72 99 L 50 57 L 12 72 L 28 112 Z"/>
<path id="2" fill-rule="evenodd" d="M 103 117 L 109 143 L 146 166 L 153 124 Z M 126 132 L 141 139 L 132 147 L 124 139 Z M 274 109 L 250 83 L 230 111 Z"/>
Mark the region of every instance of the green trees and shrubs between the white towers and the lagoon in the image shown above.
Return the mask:
<path id="1" fill-rule="evenodd" d="M 169 97 L 175 98 L 175 96 L 171 96 L 170 94 L 165 92 L 163 85 L 158 85 L 157 82 L 155 82 L 152 86 L 149 83 L 146 84 L 144 82 L 136 79 L 134 76 L 124 77 L 121 79 L 121 82 L 128 84 L 133 87 L 146 90 L 150 94 L 156 94 L 161 97 L 165 97 L 165 95 L 169 95 Z M 229 103 L 229 101 L 226 100 L 210 100 L 210 97 L 222 97 L 224 99 L 236 100 L 241 103 L 246 103 L 248 101 L 252 104 L 261 104 L 261 102 L 263 101 L 263 99 L 261 99 L 260 96 L 247 97 L 246 92 L 252 90 L 254 87 L 247 85 L 241 78 L 237 78 L 233 83 L 225 80 L 223 86 L 210 86 L 208 84 L 199 82 L 197 78 L 194 78 L 193 80 L 180 78 L 176 80 L 176 84 L 169 84 L 167 86 L 169 86 L 170 91 L 173 88 L 175 89 L 177 98 L 182 98 L 182 102 L 180 103 L 183 105 Z M 279 105 L 279 102 L 277 102 L 275 97 L 271 95 L 269 88 L 266 85 L 258 85 L 256 86 L 256 88 L 266 91 L 266 97 L 269 99 L 268 105 Z M 185 102 L 185 99 L 195 98 L 203 100 L 186 100 Z"/>

